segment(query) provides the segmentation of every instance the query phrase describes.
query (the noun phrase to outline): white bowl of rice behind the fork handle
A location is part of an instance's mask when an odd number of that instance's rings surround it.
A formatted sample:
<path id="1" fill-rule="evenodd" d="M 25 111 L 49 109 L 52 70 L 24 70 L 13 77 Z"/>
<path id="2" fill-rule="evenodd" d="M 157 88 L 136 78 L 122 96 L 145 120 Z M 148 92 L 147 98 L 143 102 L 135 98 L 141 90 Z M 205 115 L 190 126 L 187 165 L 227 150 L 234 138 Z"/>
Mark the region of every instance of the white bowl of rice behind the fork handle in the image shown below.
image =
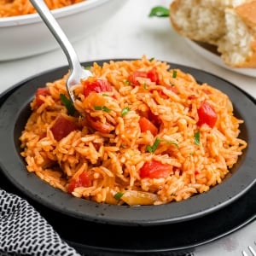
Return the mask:
<path id="1" fill-rule="evenodd" d="M 73 43 L 110 19 L 124 0 L 86 0 L 52 14 Z M 38 55 L 60 47 L 38 14 L 0 18 L 0 61 Z"/>

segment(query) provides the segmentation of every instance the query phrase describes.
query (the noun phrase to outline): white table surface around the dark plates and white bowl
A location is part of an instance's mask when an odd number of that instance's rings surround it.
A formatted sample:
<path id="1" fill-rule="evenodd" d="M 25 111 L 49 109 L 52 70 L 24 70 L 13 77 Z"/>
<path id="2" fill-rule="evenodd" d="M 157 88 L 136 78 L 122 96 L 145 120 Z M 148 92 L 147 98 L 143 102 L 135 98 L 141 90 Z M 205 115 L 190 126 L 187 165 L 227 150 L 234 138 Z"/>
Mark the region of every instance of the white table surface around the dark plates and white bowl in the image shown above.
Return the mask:
<path id="1" fill-rule="evenodd" d="M 111 20 L 87 38 L 73 44 L 80 61 L 141 58 L 142 55 L 147 55 L 213 73 L 256 97 L 256 78 L 232 72 L 207 61 L 190 49 L 185 40 L 172 30 L 168 18 L 148 17 L 154 6 L 168 7 L 171 0 L 120 1 L 127 3 L 117 15 L 113 15 Z M 0 93 L 32 75 L 54 67 L 66 66 L 66 56 L 58 48 L 57 43 L 56 47 L 57 49 L 53 51 L 26 59 L 0 61 Z M 247 244 L 253 244 L 255 240 L 256 222 L 253 222 L 229 236 L 196 247 L 194 254 L 195 256 L 241 255 L 241 249 Z"/>

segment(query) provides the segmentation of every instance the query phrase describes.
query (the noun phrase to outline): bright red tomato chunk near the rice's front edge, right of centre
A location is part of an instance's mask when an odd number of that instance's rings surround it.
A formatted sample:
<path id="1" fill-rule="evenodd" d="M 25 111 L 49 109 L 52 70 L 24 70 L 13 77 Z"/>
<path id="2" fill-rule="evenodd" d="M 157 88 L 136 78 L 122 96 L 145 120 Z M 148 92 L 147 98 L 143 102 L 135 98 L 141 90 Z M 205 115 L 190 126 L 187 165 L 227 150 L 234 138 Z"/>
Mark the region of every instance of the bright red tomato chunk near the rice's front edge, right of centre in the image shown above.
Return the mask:
<path id="1" fill-rule="evenodd" d="M 172 173 L 172 166 L 151 160 L 146 162 L 140 169 L 140 177 L 160 178 L 168 177 Z"/>

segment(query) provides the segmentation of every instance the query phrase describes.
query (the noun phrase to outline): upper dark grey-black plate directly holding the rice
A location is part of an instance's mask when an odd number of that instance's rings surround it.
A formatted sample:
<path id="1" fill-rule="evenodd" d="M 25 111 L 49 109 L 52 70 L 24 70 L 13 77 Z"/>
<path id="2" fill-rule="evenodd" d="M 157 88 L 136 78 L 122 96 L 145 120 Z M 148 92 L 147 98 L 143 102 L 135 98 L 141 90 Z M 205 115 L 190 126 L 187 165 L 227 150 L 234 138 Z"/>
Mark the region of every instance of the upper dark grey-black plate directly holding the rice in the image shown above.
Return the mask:
<path id="1" fill-rule="evenodd" d="M 103 61 L 97 62 L 102 64 Z M 91 64 L 92 62 L 83 63 L 84 66 Z M 230 177 L 223 183 L 207 193 L 195 195 L 186 201 L 172 202 L 162 206 L 125 207 L 74 198 L 59 189 L 52 188 L 35 174 L 26 172 L 24 160 L 20 157 L 18 138 L 31 113 L 29 102 L 32 101 L 38 87 L 44 86 L 46 82 L 60 79 L 67 73 L 67 67 L 42 73 L 17 84 L 16 86 L 20 87 L 3 102 L 0 109 L 0 164 L 3 173 L 18 189 L 45 207 L 94 223 L 143 226 L 173 224 L 201 218 L 236 201 L 252 188 L 256 181 L 256 172 L 253 167 L 256 163 L 254 157 L 256 152 L 255 104 L 244 92 L 224 79 L 192 67 L 170 64 L 172 68 L 181 68 L 184 72 L 193 74 L 199 83 L 207 82 L 224 91 L 234 103 L 236 116 L 245 120 L 245 124 L 241 125 L 241 137 L 247 140 L 248 147 L 236 166 L 232 168 Z"/>

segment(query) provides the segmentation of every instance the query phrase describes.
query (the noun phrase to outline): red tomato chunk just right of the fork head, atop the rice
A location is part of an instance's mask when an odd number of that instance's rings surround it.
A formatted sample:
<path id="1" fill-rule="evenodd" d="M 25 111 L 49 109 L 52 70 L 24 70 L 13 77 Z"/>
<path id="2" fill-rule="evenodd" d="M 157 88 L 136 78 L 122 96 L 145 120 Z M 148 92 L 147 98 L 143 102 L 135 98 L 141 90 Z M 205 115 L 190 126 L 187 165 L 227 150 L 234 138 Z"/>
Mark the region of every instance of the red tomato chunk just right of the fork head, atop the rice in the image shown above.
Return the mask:
<path id="1" fill-rule="evenodd" d="M 89 78 L 82 82 L 84 85 L 84 96 L 89 96 L 91 92 L 112 91 L 112 87 L 107 80 Z"/>

